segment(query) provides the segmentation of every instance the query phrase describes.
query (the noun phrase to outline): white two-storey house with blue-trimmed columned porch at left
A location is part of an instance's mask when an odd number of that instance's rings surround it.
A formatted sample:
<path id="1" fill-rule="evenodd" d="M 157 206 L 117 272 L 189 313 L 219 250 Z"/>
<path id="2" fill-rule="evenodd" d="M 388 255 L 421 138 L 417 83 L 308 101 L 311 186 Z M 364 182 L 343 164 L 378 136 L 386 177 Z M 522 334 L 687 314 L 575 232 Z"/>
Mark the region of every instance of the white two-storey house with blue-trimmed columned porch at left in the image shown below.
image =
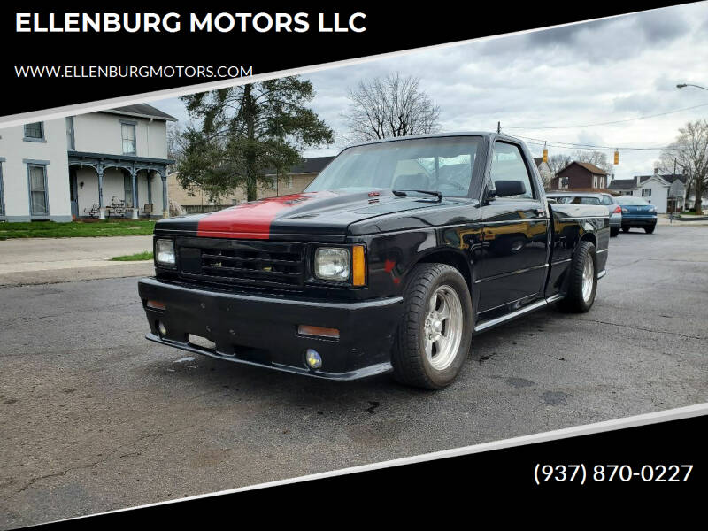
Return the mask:
<path id="1" fill-rule="evenodd" d="M 0 129 L 0 220 L 167 215 L 167 121 L 147 104 Z"/>

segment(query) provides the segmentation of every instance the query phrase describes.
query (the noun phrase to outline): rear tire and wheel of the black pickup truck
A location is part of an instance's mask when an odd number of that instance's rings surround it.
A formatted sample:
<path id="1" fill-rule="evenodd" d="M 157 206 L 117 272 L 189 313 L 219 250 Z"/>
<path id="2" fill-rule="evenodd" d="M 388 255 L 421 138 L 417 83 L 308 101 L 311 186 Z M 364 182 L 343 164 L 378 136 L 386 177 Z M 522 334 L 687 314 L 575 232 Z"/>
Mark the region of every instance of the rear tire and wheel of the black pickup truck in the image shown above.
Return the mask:
<path id="1" fill-rule="evenodd" d="M 558 303 L 565 312 L 588 312 L 595 302 L 597 269 L 595 245 L 582 241 L 573 254 L 568 271 L 566 296 Z"/>

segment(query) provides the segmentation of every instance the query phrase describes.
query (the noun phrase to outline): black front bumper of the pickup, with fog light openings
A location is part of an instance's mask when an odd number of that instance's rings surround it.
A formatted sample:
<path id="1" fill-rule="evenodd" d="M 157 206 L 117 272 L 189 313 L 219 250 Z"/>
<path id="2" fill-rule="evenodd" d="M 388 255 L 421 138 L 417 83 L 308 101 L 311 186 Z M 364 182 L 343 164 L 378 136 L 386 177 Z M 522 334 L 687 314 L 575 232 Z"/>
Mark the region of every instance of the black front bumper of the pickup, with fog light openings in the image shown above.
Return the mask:
<path id="1" fill-rule="evenodd" d="M 148 318 L 150 341 L 289 373 L 356 380 L 391 370 L 390 350 L 403 312 L 402 297 L 349 303 L 253 296 L 196 289 L 144 278 L 138 282 Z M 148 300 L 165 310 L 147 306 Z M 166 334 L 160 334 L 162 322 Z M 337 328 L 338 340 L 297 334 L 298 325 Z M 189 335 L 214 343 L 205 348 Z M 307 349 L 319 352 L 322 366 L 305 364 Z"/>

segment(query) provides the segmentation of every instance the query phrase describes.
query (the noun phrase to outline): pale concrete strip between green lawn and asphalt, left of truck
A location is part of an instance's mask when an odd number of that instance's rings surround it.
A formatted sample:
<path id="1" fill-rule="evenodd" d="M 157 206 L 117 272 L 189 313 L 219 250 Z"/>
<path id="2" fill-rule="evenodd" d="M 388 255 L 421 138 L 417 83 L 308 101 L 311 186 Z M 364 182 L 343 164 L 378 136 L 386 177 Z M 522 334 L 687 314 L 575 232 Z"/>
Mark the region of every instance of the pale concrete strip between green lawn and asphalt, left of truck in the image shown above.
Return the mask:
<path id="1" fill-rule="evenodd" d="M 111 258 L 152 249 L 152 236 L 26 238 L 0 241 L 0 286 L 142 276 L 152 260 Z"/>

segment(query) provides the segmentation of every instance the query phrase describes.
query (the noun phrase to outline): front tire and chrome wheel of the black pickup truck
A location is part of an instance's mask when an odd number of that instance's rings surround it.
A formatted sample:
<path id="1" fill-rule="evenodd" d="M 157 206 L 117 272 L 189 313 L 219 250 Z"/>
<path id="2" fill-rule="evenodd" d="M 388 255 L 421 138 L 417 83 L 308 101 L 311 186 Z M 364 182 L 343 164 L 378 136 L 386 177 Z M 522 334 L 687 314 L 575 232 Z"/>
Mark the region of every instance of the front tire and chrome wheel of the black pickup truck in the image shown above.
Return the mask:
<path id="1" fill-rule="evenodd" d="M 404 315 L 391 353 L 394 377 L 442 389 L 455 379 L 472 342 L 472 299 L 465 278 L 447 264 L 419 264 L 404 293 Z"/>

